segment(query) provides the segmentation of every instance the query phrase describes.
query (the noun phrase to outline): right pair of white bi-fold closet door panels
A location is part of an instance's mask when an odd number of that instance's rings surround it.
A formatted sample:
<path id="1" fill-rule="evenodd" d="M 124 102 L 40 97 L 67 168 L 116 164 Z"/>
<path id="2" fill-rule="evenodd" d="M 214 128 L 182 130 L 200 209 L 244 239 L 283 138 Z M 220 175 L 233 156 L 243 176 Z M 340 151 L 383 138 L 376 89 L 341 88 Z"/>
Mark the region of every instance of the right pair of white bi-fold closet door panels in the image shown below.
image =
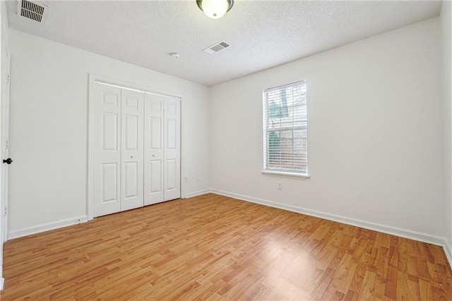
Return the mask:
<path id="1" fill-rule="evenodd" d="M 145 95 L 144 203 L 179 199 L 180 100 Z"/>

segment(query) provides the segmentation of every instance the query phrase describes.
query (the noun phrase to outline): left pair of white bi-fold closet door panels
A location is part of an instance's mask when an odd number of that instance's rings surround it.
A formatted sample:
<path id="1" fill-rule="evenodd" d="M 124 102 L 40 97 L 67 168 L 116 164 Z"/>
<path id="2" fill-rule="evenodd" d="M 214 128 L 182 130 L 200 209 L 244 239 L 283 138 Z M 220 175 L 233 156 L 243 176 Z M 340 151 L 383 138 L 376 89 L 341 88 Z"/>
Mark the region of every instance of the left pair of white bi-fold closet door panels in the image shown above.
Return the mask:
<path id="1" fill-rule="evenodd" d="M 95 85 L 93 216 L 143 206 L 143 93 Z"/>

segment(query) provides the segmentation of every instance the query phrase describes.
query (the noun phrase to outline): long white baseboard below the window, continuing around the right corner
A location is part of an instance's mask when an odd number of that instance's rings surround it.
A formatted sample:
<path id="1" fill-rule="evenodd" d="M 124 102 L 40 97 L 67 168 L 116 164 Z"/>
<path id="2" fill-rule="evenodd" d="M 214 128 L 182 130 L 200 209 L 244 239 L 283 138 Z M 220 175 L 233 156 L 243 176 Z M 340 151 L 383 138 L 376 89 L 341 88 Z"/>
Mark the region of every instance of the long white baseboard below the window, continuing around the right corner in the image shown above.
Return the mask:
<path id="1" fill-rule="evenodd" d="M 443 247 L 444 252 L 446 253 L 446 257 L 449 261 L 449 265 L 452 267 L 452 247 L 451 244 L 448 243 L 445 237 L 439 237 L 436 235 L 429 235 L 427 233 L 416 232 L 412 230 L 407 230 L 403 228 L 396 228 L 389 225 L 382 225 L 379 223 L 371 223 L 366 220 L 357 220 L 355 218 L 347 218 L 345 216 L 337 216 L 331 213 L 324 213 L 321 211 L 314 211 L 307 208 L 290 206 L 283 203 L 275 203 L 273 201 L 268 201 L 265 199 L 258 199 L 252 196 L 244 196 L 242 194 L 234 194 L 228 191 L 222 191 L 217 189 L 212 189 L 210 192 L 213 194 L 220 194 L 222 196 L 229 196 L 234 199 L 239 199 L 242 201 L 249 201 L 251 203 L 258 203 L 260 205 L 265 205 L 273 208 L 279 208 L 287 211 L 292 211 L 296 213 L 302 213 L 307 216 L 315 216 L 316 218 L 323 218 L 326 220 L 333 220 L 338 223 L 344 223 L 347 225 L 353 225 L 359 228 L 364 228 L 368 230 L 374 230 L 377 232 L 383 232 L 390 235 L 396 235 L 399 237 L 405 237 L 410 240 L 417 240 L 420 242 L 427 242 L 428 244 L 435 244 Z"/>

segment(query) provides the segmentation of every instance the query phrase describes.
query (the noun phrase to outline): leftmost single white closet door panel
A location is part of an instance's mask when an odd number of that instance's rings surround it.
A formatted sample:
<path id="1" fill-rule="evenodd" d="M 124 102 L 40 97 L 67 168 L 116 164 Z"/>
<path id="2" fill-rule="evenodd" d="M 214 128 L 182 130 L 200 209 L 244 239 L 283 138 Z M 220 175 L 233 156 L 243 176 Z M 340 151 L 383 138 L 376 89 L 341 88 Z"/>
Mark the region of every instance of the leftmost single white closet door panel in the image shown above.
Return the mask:
<path id="1" fill-rule="evenodd" d="M 121 89 L 94 85 L 93 214 L 121 209 Z"/>

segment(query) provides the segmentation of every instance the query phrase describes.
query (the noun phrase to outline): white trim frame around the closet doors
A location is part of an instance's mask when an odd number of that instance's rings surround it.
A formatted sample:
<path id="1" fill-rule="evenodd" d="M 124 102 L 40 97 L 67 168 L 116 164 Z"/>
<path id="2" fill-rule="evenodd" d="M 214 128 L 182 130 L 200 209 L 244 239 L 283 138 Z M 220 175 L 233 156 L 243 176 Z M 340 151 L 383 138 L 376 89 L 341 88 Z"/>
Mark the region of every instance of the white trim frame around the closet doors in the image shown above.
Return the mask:
<path id="1" fill-rule="evenodd" d="M 94 218 L 94 187 L 93 187 L 93 170 L 94 170 L 94 163 L 93 163 L 93 124 L 94 124 L 94 102 L 95 102 L 95 95 L 94 95 L 94 87 L 95 85 L 99 85 L 99 83 L 96 83 L 96 81 L 101 81 L 104 84 L 107 85 L 113 85 L 117 86 L 117 88 L 129 88 L 131 90 L 138 90 L 138 91 L 146 91 L 150 93 L 157 93 L 160 95 L 165 95 L 169 98 L 177 98 L 180 101 L 180 152 L 179 152 L 179 158 L 180 158 L 180 177 L 179 182 L 181 184 L 181 199 L 185 199 L 185 183 L 182 181 L 183 175 L 185 175 L 185 166 L 184 166 L 184 118 L 183 118 L 183 97 L 182 95 L 179 95 L 177 93 L 172 93 L 166 90 L 161 90 L 157 88 L 153 88 L 150 86 L 145 85 L 138 85 L 135 83 L 130 83 L 128 81 L 121 81 L 115 78 L 109 78 L 107 76 L 100 76 L 94 73 L 88 73 L 88 162 L 87 162 L 87 215 L 88 220 L 93 220 Z"/>

